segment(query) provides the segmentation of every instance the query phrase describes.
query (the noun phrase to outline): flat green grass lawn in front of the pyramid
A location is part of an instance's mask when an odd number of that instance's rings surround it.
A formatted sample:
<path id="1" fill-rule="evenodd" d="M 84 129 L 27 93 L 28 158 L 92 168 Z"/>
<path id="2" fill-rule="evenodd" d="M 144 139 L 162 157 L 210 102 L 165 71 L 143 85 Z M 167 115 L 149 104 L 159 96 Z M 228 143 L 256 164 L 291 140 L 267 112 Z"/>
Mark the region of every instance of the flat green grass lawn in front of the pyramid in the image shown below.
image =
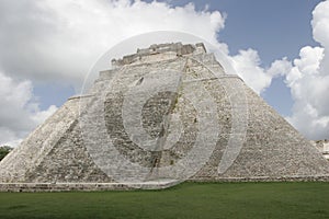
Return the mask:
<path id="1" fill-rule="evenodd" d="M 329 218 L 329 183 L 183 183 L 164 191 L 0 193 L 0 218 Z"/>

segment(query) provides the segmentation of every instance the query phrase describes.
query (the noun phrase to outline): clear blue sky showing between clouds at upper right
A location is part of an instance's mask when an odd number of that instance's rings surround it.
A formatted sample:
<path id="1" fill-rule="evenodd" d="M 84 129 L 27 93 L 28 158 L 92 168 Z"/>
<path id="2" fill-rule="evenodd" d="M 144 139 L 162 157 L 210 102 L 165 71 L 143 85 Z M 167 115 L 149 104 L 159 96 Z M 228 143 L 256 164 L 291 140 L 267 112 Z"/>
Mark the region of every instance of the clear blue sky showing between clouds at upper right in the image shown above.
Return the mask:
<path id="1" fill-rule="evenodd" d="M 201 7 L 198 1 L 197 5 Z M 231 54 L 253 48 L 261 57 L 261 66 L 269 67 L 281 57 L 293 60 L 305 45 L 317 45 L 311 36 L 311 11 L 319 0 L 219 0 L 207 1 L 209 9 L 227 13 L 226 26 L 219 41 Z M 283 78 L 272 81 L 262 96 L 279 113 L 291 115 L 293 101 Z"/>

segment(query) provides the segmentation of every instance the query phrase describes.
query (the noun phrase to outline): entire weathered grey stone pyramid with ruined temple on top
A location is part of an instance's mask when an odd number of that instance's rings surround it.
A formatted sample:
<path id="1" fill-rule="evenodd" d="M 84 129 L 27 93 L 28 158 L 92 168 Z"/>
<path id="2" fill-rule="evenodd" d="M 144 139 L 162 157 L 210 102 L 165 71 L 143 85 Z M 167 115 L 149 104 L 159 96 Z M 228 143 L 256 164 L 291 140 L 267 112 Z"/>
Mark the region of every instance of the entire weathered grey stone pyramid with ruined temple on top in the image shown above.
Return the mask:
<path id="1" fill-rule="evenodd" d="M 0 191 L 328 180 L 321 153 L 202 43 L 109 60 L 0 162 Z"/>

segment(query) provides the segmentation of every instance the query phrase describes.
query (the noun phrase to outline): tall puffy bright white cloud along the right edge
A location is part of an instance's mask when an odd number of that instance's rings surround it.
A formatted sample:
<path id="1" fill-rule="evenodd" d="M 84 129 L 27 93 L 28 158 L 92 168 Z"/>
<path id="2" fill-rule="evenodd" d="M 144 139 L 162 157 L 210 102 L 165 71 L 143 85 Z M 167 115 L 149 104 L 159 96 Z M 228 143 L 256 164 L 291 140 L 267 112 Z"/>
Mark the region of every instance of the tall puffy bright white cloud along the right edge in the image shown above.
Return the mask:
<path id="1" fill-rule="evenodd" d="M 287 119 L 310 139 L 329 138 L 329 1 L 313 12 L 314 38 L 321 47 L 306 46 L 286 74 L 294 99 L 293 115 Z"/>

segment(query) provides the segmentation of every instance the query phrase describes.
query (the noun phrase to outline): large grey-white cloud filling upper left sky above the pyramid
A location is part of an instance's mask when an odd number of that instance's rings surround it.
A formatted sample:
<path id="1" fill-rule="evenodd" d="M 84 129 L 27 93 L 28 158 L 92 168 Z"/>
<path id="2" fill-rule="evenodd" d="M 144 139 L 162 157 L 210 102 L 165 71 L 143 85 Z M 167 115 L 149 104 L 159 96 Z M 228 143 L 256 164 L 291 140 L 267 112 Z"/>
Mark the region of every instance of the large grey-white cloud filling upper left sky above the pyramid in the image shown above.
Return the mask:
<path id="1" fill-rule="evenodd" d="M 225 19 L 192 3 L 128 0 L 0 2 L 0 66 L 34 80 L 81 83 L 94 61 L 115 44 L 154 31 L 179 31 L 216 43 Z"/>

